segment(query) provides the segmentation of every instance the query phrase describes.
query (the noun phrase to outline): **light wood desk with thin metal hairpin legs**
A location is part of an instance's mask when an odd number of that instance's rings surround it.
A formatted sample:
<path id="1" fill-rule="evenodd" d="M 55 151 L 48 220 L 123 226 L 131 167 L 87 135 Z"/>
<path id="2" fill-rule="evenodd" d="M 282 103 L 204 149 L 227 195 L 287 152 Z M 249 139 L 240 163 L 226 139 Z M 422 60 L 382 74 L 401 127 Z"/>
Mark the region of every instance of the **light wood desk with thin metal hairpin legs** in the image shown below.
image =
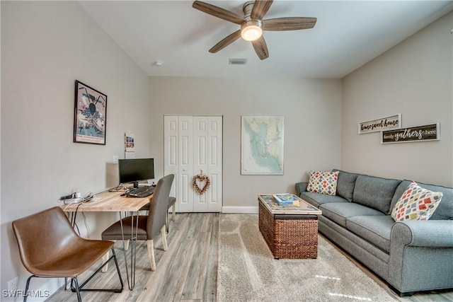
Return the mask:
<path id="1" fill-rule="evenodd" d="M 124 194 L 124 191 L 119 191 L 119 192 L 101 192 L 96 194 L 96 197 L 99 198 L 97 201 L 90 201 L 90 202 L 84 202 L 84 203 L 76 203 L 76 204 L 63 204 L 61 207 L 63 211 L 66 212 L 71 212 L 71 224 L 74 226 L 74 223 L 76 222 L 76 214 L 77 212 L 99 212 L 99 211 L 115 211 L 115 212 L 120 212 L 120 220 L 122 219 L 122 213 L 123 212 L 131 212 L 132 213 L 132 221 L 134 221 L 133 216 L 137 216 L 137 229 L 138 229 L 138 211 L 139 209 L 142 209 L 144 205 L 149 204 L 151 202 L 151 198 L 153 194 L 147 196 L 147 197 L 126 197 L 126 196 L 121 196 Z M 123 233 L 124 234 L 124 233 Z M 132 234 L 132 247 L 131 247 L 131 254 L 130 254 L 130 271 L 131 275 L 129 277 L 129 272 L 127 271 L 127 259 L 126 259 L 126 251 L 127 251 L 127 244 L 129 241 L 123 240 L 124 247 L 125 247 L 125 264 L 126 264 L 126 274 L 127 274 L 127 285 L 129 286 L 129 289 L 132 291 L 132 289 L 135 286 L 135 255 L 136 255 L 136 243 L 135 241 L 137 240 L 137 230 L 134 236 L 134 227 L 132 223 L 132 229 L 131 229 L 131 234 Z M 106 255 L 108 258 L 108 255 Z M 107 269 L 107 265 L 104 267 L 105 270 Z M 103 272 L 105 272 L 103 270 Z"/>

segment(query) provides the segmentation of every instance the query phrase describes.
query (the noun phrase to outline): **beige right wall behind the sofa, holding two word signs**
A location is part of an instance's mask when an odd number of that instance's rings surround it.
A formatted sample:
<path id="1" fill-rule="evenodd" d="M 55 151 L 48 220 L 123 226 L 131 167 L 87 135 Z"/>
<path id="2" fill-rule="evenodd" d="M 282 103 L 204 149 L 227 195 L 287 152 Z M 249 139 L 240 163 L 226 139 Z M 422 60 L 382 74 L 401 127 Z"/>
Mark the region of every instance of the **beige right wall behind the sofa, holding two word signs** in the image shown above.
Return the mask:
<path id="1" fill-rule="evenodd" d="M 342 168 L 453 185 L 453 13 L 343 79 Z M 402 114 L 403 127 L 440 122 L 440 141 L 380 144 L 357 123 Z"/>

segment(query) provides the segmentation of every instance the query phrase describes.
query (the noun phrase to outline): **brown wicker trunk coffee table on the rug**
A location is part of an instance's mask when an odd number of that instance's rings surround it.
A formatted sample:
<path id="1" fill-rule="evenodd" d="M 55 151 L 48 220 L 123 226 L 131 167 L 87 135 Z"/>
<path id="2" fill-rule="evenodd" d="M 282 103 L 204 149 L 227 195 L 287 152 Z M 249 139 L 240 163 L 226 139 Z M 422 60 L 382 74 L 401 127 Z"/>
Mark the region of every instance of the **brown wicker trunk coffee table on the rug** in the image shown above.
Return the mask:
<path id="1" fill-rule="evenodd" d="M 279 206 L 270 194 L 258 194 L 258 226 L 275 259 L 318 257 L 321 210 L 299 199 L 299 207 Z"/>

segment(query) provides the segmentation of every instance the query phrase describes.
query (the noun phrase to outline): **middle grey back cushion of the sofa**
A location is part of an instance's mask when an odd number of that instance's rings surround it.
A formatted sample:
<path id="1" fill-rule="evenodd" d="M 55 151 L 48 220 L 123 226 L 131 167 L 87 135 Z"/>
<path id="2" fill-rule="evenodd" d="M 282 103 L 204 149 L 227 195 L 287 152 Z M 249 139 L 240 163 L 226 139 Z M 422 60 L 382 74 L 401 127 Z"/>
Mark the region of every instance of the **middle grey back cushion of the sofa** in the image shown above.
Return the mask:
<path id="1" fill-rule="evenodd" d="M 352 202 L 389 214 L 390 203 L 400 180 L 357 175 Z"/>

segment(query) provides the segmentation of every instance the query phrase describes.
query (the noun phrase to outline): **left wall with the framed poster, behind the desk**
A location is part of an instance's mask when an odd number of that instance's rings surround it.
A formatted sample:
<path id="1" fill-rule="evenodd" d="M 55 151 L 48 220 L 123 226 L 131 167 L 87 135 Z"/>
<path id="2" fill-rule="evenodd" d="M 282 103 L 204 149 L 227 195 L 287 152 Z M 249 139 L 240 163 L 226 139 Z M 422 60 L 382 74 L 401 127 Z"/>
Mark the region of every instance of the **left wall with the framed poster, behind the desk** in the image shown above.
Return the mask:
<path id="1" fill-rule="evenodd" d="M 108 95 L 105 146 L 72 141 L 76 79 Z M 76 188 L 113 187 L 107 168 L 114 155 L 124 158 L 126 131 L 136 134 L 137 157 L 149 156 L 148 78 L 77 2 L 1 1 L 1 80 L 0 289 L 17 275 L 24 289 L 29 274 L 11 221 Z M 100 238 L 115 215 L 87 219 L 88 237 Z M 32 281 L 33 289 L 42 284 L 57 282 Z"/>

